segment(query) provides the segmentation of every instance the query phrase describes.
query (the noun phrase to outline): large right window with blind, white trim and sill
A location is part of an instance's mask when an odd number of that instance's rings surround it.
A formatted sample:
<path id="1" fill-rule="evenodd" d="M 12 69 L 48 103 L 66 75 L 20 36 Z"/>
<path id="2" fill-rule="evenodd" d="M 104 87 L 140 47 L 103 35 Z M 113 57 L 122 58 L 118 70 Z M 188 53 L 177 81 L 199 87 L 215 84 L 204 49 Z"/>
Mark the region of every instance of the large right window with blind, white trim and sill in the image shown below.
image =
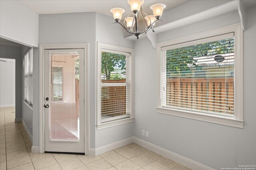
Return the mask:
<path id="1" fill-rule="evenodd" d="M 191 41 L 180 39 L 158 47 L 159 113 L 242 127 L 238 31 L 226 28 L 219 35 L 202 33 L 206 37 L 195 35 Z"/>

